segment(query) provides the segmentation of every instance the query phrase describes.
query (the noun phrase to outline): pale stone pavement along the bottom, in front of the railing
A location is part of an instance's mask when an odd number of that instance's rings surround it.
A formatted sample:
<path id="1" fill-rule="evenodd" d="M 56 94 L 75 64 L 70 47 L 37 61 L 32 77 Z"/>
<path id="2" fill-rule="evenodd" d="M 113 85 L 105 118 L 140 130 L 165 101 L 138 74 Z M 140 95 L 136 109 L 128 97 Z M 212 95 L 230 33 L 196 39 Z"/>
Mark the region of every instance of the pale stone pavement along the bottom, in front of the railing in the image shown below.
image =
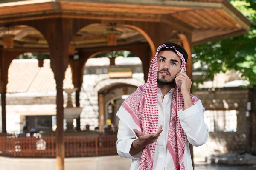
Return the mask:
<path id="1" fill-rule="evenodd" d="M 119 156 L 66 158 L 65 170 L 129 170 L 131 160 Z M 0 157 L 0 170 L 56 170 L 56 159 Z M 256 165 L 227 166 L 195 160 L 195 170 L 256 170 Z"/>

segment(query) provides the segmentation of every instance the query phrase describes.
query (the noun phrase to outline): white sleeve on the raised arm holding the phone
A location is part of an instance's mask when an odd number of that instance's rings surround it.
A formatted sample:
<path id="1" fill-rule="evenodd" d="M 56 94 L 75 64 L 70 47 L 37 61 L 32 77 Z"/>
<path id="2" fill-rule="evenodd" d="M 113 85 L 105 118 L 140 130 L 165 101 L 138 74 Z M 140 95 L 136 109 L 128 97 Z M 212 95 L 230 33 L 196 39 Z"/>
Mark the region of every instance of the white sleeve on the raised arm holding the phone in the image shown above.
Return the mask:
<path id="1" fill-rule="evenodd" d="M 204 111 L 201 101 L 198 101 L 190 108 L 177 113 L 181 127 L 186 133 L 189 143 L 193 146 L 205 144 L 209 136 L 208 126 L 204 123 Z"/>

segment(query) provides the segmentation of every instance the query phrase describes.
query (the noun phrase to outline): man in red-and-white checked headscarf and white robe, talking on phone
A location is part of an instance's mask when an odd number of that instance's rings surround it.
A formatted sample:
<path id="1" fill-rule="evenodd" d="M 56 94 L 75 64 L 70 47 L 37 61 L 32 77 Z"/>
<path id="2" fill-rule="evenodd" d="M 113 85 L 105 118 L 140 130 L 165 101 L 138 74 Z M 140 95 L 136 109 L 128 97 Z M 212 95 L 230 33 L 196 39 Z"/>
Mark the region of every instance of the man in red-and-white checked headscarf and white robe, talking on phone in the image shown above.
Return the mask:
<path id="1" fill-rule="evenodd" d="M 117 112 L 117 153 L 132 159 L 131 170 L 193 169 L 189 143 L 203 145 L 209 130 L 201 101 L 190 94 L 187 59 L 180 45 L 160 45 L 147 83 L 128 96 Z"/>

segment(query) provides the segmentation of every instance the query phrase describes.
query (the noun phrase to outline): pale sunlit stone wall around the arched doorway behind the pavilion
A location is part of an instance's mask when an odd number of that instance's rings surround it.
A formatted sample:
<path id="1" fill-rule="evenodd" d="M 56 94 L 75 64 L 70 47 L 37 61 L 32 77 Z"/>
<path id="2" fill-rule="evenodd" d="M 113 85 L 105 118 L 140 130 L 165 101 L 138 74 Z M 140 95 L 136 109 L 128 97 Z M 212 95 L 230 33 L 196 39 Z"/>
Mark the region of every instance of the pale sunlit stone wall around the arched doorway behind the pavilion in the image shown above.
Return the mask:
<path id="1" fill-rule="evenodd" d="M 114 78 L 108 77 L 108 68 L 113 66 L 102 66 L 102 67 L 86 67 L 84 69 L 83 85 L 80 92 L 80 107 L 83 111 L 80 115 L 80 127 L 81 130 L 85 129 L 85 125 L 90 125 L 90 130 L 94 130 L 95 127 L 99 126 L 99 106 L 98 106 L 98 92 L 102 89 L 113 86 L 115 84 L 127 84 L 127 86 L 143 85 L 144 74 L 142 65 L 118 65 L 115 68 L 131 68 L 132 77 L 127 78 Z M 129 88 L 128 93 L 131 94 L 134 88 Z M 116 95 L 122 95 L 118 89 L 112 97 Z M 109 101 L 109 96 L 106 96 L 106 101 Z"/>

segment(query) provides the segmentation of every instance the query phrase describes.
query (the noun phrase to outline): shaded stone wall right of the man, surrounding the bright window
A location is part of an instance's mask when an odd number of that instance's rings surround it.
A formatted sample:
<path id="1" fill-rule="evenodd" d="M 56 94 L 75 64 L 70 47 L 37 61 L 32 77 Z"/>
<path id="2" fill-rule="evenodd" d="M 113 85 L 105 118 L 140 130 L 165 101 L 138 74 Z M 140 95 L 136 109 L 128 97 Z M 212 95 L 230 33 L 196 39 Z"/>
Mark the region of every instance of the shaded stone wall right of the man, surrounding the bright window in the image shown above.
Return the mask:
<path id="1" fill-rule="evenodd" d="M 236 132 L 210 132 L 207 143 L 194 147 L 194 154 L 207 155 L 215 151 L 245 150 L 247 141 L 246 105 L 249 90 L 241 88 L 202 89 L 193 93 L 201 99 L 206 110 L 237 110 Z"/>

